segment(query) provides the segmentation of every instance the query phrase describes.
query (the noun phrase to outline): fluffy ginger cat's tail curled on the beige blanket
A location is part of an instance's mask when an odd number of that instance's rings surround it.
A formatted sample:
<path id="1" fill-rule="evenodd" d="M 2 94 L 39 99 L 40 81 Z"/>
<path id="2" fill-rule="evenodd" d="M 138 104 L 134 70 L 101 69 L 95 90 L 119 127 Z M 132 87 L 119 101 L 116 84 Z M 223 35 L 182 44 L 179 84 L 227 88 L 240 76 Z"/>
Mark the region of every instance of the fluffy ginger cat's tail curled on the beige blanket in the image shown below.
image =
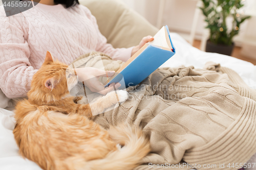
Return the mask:
<path id="1" fill-rule="evenodd" d="M 106 155 L 104 159 L 87 162 L 90 170 L 130 170 L 140 164 L 141 159 L 150 152 L 150 143 L 138 127 L 119 125 L 109 130 L 111 138 L 124 145 L 121 149 Z"/>

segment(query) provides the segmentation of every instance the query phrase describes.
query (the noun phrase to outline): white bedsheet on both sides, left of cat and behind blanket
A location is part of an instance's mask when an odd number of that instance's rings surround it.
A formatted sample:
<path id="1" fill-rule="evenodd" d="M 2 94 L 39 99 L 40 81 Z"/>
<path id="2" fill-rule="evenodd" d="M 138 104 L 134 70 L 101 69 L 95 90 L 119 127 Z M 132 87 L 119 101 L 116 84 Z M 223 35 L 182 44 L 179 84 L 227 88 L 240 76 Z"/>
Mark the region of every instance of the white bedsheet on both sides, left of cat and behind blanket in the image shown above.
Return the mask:
<path id="1" fill-rule="evenodd" d="M 161 67 L 193 65 L 196 68 L 202 68 L 207 61 L 214 61 L 220 63 L 221 66 L 231 68 L 238 72 L 247 85 L 256 89 L 256 66 L 253 64 L 225 55 L 202 52 L 175 33 L 171 33 L 170 37 L 176 47 L 176 54 Z M 0 93 L 0 95 L 3 94 Z M 1 101 L 1 103 L 4 102 L 6 103 L 6 101 Z M 15 126 L 15 120 L 12 116 L 13 112 L 0 108 L 0 169 L 41 169 L 34 162 L 23 159 L 18 155 L 18 147 L 12 134 Z"/>

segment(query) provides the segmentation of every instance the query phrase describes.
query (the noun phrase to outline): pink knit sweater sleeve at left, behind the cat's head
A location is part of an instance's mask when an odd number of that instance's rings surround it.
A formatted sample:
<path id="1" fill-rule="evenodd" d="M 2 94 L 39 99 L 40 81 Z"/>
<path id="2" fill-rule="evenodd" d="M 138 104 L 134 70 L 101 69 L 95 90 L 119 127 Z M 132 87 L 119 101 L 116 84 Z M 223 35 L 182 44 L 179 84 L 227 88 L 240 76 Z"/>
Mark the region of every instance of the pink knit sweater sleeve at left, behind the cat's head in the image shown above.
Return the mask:
<path id="1" fill-rule="evenodd" d="M 8 98 L 26 96 L 37 71 L 29 62 L 30 50 L 22 27 L 25 18 L 17 15 L 6 17 L 0 8 L 0 88 Z"/>

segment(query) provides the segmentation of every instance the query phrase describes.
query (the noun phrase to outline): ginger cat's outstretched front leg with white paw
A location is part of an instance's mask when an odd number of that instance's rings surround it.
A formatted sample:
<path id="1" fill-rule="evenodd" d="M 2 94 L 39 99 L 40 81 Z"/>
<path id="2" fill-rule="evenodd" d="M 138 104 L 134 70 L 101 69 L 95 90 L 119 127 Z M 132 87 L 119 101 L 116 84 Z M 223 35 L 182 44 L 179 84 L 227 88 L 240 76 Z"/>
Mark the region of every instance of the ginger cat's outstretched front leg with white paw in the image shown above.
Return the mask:
<path id="1" fill-rule="evenodd" d="M 102 96 L 97 101 L 90 104 L 93 115 L 103 113 L 105 109 L 117 104 L 118 102 L 124 102 L 128 99 L 128 92 L 125 90 L 111 91 L 110 93 Z"/>

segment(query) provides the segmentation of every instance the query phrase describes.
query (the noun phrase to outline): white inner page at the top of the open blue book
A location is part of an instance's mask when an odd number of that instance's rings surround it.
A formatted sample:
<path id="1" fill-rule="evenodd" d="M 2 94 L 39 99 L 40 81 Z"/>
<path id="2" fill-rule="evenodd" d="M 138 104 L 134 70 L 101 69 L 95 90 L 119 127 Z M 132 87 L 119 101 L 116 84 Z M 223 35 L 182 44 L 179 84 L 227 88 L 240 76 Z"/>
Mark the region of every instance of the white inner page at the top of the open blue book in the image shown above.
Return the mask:
<path id="1" fill-rule="evenodd" d="M 163 26 L 154 36 L 154 40 L 147 43 L 172 49 L 172 45 L 169 46 L 166 42 L 166 36 L 168 37 L 168 33 L 166 35 L 166 32 L 166 28 Z"/>

